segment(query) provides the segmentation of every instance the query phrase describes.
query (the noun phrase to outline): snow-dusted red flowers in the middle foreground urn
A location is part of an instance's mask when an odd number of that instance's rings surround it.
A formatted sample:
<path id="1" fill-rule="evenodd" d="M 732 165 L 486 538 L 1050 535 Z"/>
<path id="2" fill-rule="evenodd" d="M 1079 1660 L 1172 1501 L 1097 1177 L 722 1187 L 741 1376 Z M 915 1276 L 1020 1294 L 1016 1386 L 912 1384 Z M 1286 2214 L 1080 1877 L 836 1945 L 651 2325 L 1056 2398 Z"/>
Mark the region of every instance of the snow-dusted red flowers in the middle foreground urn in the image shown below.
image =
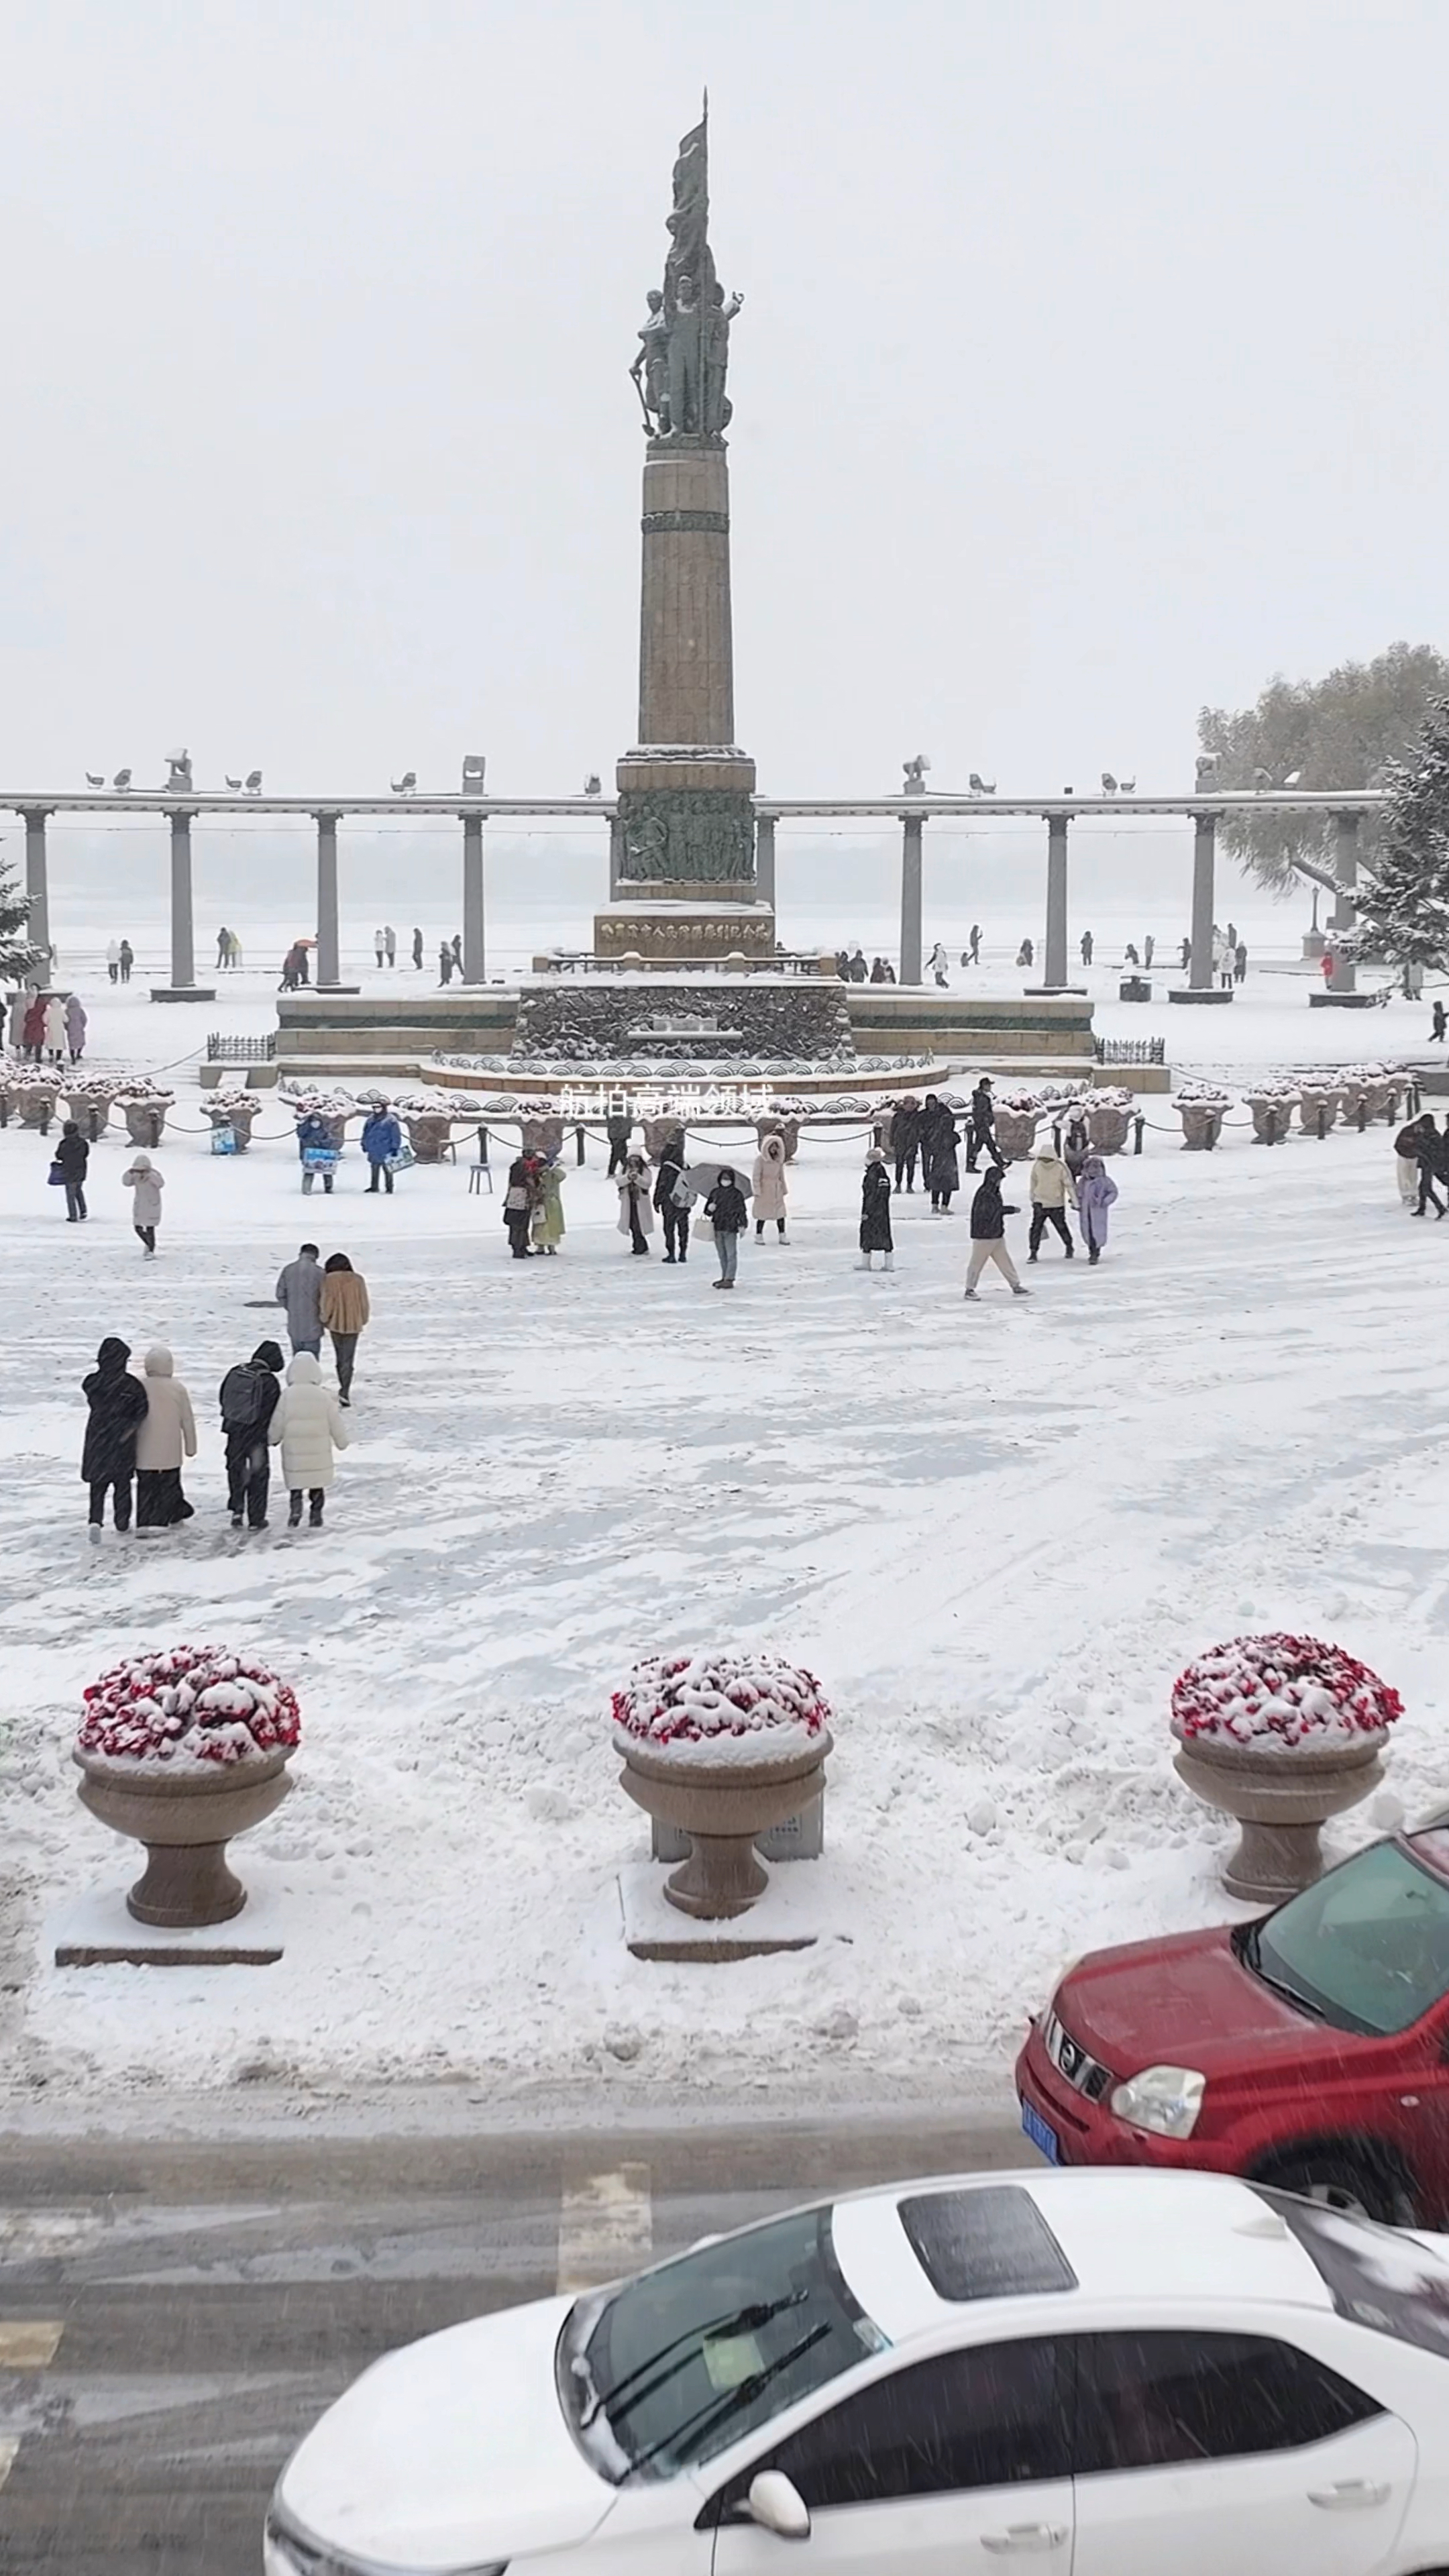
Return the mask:
<path id="1" fill-rule="evenodd" d="M 614 1692 L 614 1744 L 673 1762 L 781 1762 L 830 1726 L 812 1672 L 781 1654 L 647 1654 Z"/>

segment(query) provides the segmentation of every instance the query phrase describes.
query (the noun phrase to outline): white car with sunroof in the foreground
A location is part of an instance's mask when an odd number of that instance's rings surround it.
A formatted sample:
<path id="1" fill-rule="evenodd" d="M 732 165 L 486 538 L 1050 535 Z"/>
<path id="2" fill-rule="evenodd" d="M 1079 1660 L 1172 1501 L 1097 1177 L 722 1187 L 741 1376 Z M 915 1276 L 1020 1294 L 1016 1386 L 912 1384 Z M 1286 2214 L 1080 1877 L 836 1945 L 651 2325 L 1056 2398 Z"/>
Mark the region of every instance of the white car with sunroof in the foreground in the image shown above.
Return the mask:
<path id="1" fill-rule="evenodd" d="M 376 2362 L 266 2576 L 1449 2571 L 1449 2239 L 1225 2174 L 892 2184 Z"/>

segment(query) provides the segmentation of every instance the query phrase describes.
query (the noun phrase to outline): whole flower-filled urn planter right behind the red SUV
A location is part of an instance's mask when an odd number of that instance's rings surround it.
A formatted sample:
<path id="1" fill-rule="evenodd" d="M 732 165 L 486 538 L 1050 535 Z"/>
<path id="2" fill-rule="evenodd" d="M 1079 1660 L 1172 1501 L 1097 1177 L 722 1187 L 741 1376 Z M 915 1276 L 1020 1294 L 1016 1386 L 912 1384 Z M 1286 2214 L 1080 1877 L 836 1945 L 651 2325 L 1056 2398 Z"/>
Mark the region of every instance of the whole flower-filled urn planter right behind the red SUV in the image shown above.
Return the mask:
<path id="1" fill-rule="evenodd" d="M 1397 1690 L 1312 1636 L 1238 1636 L 1173 1682 L 1176 1770 L 1240 1826 L 1230 1896 L 1276 1904 L 1323 1873 L 1320 1832 L 1382 1777 Z"/>

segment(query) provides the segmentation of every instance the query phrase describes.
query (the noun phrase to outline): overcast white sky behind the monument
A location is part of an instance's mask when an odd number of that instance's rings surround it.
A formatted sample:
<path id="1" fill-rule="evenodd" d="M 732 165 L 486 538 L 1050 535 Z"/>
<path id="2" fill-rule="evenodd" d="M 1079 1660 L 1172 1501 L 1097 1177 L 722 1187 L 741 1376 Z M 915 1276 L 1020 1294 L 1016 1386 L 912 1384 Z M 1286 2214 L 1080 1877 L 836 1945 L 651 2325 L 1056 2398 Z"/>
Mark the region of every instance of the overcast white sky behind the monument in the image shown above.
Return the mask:
<path id="1" fill-rule="evenodd" d="M 1449 644 L 1444 0 L 8 0 L 0 781 L 562 793 L 712 93 L 776 793 L 1191 775 Z"/>

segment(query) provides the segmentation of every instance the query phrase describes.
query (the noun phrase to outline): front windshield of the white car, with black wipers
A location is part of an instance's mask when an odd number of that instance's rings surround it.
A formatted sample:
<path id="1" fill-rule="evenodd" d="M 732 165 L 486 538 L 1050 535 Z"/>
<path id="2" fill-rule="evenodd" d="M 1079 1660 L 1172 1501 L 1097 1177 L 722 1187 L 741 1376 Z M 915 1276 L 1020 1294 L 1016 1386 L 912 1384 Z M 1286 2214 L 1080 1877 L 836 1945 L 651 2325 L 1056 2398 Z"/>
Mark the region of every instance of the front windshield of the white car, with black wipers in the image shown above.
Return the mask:
<path id="1" fill-rule="evenodd" d="M 835 2262 L 830 2210 L 797 2210 L 580 2298 L 559 2403 L 614 2486 L 673 2478 L 884 2349 Z"/>

